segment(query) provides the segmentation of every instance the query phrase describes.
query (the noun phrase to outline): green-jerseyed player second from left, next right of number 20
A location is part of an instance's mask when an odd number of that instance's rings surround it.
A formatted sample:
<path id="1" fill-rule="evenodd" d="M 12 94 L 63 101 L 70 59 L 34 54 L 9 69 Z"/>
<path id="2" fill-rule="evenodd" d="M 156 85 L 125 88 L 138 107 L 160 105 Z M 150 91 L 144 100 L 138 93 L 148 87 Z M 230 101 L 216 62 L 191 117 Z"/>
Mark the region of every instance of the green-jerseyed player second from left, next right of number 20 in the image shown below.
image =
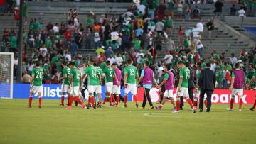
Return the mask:
<path id="1" fill-rule="evenodd" d="M 63 84 L 62 84 L 62 92 L 61 92 L 61 101 L 60 101 L 60 106 L 64 106 L 64 94 L 68 94 L 68 105 L 69 105 L 69 99 L 70 99 L 70 68 L 67 67 L 67 62 L 63 61 L 62 63 L 63 66 L 63 77 L 60 77 L 59 81 L 61 82 L 63 79 Z"/>

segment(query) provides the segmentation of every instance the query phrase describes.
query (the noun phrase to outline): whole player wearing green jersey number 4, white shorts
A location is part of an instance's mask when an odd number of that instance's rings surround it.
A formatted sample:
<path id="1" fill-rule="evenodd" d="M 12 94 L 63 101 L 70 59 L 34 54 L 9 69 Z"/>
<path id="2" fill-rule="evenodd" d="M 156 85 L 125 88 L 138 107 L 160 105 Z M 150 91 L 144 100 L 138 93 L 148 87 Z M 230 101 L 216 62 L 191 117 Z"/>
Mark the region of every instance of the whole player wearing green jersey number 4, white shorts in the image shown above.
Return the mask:
<path id="1" fill-rule="evenodd" d="M 104 104 L 105 104 L 105 101 L 107 101 L 107 99 L 109 99 L 110 106 L 112 106 L 111 92 L 112 92 L 112 87 L 113 87 L 113 79 L 116 79 L 116 81 L 117 81 L 117 77 L 114 72 L 114 69 L 110 65 L 109 60 L 107 60 L 106 65 L 107 65 L 107 67 L 105 67 L 105 69 L 103 70 L 103 72 L 105 74 L 105 80 L 106 80 L 106 83 L 105 83 L 106 96 L 104 99 Z M 117 85 L 119 86 L 119 82 L 117 82 Z"/>

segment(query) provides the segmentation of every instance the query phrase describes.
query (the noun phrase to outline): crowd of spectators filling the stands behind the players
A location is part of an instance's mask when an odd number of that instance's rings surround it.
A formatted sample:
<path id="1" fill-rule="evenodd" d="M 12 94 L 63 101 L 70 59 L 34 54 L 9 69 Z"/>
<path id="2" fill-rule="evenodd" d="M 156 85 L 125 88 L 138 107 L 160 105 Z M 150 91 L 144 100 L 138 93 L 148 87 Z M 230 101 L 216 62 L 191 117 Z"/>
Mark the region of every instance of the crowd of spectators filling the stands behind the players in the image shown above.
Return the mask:
<path id="1" fill-rule="evenodd" d="M 225 56 L 225 53 L 220 55 L 213 51 L 212 57 L 203 59 L 204 46 L 201 42 L 203 29 L 204 27 L 207 29 L 210 38 L 211 31 L 214 31 L 214 24 L 213 19 L 203 23 L 197 6 L 191 9 L 191 4 L 198 2 L 200 1 L 185 1 L 188 5 L 183 9 L 183 1 L 143 0 L 130 6 L 127 12 L 119 16 L 104 14 L 96 18 L 95 13 L 91 11 L 85 23 L 80 21 L 76 9 L 68 11 L 67 22 L 47 23 L 43 26 L 41 18 L 31 19 L 28 23 L 29 31 L 23 31 L 22 72 L 28 78 L 34 62 L 39 60 L 45 69 L 43 82 L 58 84 L 63 60 L 75 62 L 81 72 L 84 72 L 90 58 L 94 58 L 101 68 L 106 67 L 107 60 L 111 64 L 117 62 L 121 70 L 124 70 L 127 59 L 132 59 L 139 73 L 143 68 L 142 64 L 149 61 L 157 81 L 160 82 L 164 65 L 172 66 L 178 81 L 177 62 L 181 60 L 186 62 L 188 67 L 195 70 L 195 77 L 196 63 L 201 62 L 205 67 L 206 62 L 211 62 L 211 69 L 217 74 L 218 87 L 224 89 L 228 88 L 233 66 L 236 62 L 240 62 L 249 81 L 254 70 L 253 65 L 256 63 L 255 49 L 250 52 L 242 50 L 240 57 L 231 55 L 230 58 Z M 203 2 L 211 3 L 211 1 Z M 175 4 L 177 8 L 174 7 Z M 216 4 L 218 1 L 215 6 Z M 218 9 L 215 9 L 215 13 L 219 14 L 218 12 Z M 174 16 L 175 18 L 194 18 L 198 22 L 193 28 L 179 26 L 176 29 Z M 4 29 L 1 40 L 2 50 L 17 53 L 16 35 L 15 29 L 11 31 Z M 177 42 L 173 40 L 174 36 L 178 36 Z M 95 55 L 81 55 L 83 49 L 93 49 Z M 28 53 L 31 54 L 29 57 Z M 159 55 L 164 55 L 164 58 L 159 58 Z M 18 62 L 16 63 L 18 65 Z M 245 67 L 248 63 L 250 65 L 247 69 Z M 16 74 L 16 65 L 14 70 Z"/>

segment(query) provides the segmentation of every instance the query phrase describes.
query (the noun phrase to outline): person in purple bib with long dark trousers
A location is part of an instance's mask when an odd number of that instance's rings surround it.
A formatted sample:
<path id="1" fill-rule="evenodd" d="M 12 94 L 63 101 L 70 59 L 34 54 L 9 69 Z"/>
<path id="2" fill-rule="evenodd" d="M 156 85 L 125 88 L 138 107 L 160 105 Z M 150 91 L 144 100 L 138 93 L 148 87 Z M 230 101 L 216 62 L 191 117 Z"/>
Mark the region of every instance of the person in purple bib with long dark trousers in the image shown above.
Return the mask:
<path id="1" fill-rule="evenodd" d="M 149 68 L 149 61 L 146 61 L 144 63 L 144 69 L 142 70 L 141 77 L 139 78 L 137 85 L 139 85 L 141 81 L 144 89 L 144 98 L 143 98 L 142 108 L 145 109 L 146 100 L 147 100 L 149 101 L 149 106 L 150 106 L 149 109 L 154 109 L 151 98 L 149 96 L 149 91 L 152 87 L 152 81 L 154 81 L 154 83 L 156 84 L 156 87 L 158 87 L 158 85 L 156 83 L 153 70 Z"/>

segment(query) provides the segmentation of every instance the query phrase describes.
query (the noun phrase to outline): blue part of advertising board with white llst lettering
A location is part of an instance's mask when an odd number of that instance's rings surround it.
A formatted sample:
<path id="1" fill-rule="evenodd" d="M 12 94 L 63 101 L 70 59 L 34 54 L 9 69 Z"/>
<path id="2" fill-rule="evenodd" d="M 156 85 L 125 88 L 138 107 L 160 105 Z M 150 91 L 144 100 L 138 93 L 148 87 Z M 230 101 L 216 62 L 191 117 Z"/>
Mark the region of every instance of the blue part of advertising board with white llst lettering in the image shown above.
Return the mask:
<path id="1" fill-rule="evenodd" d="M 121 89 L 121 95 L 124 96 L 124 88 Z M 43 99 L 60 99 L 61 85 L 60 84 L 43 84 Z M 14 84 L 14 99 L 28 99 L 29 84 Z M 33 97 L 38 97 L 34 94 Z M 65 95 L 67 97 L 67 95 Z M 105 98 L 105 86 L 102 86 L 102 99 Z M 128 94 L 128 101 L 132 101 L 131 94 Z"/>

